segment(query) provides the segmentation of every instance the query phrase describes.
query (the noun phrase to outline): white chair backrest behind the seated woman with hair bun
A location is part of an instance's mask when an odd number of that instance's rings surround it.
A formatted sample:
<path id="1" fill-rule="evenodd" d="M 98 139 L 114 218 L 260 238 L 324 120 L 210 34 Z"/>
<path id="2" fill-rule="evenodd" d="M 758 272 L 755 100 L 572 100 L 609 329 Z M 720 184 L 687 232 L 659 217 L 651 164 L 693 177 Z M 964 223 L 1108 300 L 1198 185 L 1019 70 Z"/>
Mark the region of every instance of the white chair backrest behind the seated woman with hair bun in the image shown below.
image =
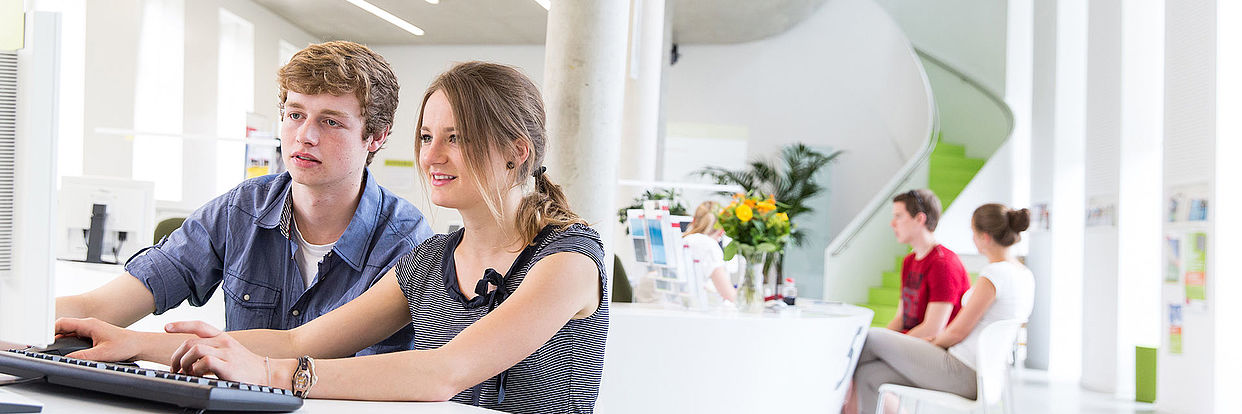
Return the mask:
<path id="1" fill-rule="evenodd" d="M 976 400 L 989 407 L 1000 402 L 1009 380 L 1009 356 L 1017 341 L 1022 320 L 1001 320 L 982 327 L 979 334 L 979 353 L 975 356 L 975 375 L 979 382 Z"/>

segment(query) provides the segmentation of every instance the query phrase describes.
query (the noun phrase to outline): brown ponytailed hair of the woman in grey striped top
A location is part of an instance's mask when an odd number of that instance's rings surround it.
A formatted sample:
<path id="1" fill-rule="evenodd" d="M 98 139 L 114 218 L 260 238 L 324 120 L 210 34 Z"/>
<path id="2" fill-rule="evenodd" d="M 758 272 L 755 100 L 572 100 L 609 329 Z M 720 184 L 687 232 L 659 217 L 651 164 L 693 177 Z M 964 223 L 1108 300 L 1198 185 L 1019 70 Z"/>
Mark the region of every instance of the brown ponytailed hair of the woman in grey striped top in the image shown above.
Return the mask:
<path id="1" fill-rule="evenodd" d="M 586 224 L 569 208 L 565 193 L 560 185 L 548 179 L 543 167 L 546 153 L 543 97 L 534 82 L 517 68 L 488 62 L 458 63 L 441 73 L 422 96 L 422 106 L 437 92 L 443 91 L 448 106 L 457 118 L 457 142 L 462 149 L 462 159 L 469 174 L 478 184 L 483 201 L 497 221 L 502 221 L 501 210 L 503 193 L 534 178 L 534 191 L 522 198 L 514 218 L 518 234 L 523 242 L 535 239 L 543 228 L 553 225 L 566 228 L 571 224 Z M 415 131 L 422 131 L 422 113 Z M 514 163 L 519 145 L 529 149 L 529 157 Z M 415 145 L 415 158 L 421 145 Z M 489 174 L 494 162 L 493 154 L 509 159 L 507 167 L 514 172 L 507 183 L 493 183 Z"/>

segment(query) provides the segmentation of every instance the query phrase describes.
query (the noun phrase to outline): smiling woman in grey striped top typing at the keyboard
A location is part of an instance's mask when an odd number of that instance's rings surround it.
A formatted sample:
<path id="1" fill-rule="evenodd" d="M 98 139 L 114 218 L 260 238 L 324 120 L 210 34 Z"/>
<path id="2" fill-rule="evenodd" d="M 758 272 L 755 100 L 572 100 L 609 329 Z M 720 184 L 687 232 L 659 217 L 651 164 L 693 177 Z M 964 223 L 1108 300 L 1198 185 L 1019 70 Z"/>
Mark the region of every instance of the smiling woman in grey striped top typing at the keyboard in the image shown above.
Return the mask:
<path id="1" fill-rule="evenodd" d="M 166 361 L 302 397 L 591 412 L 609 326 L 604 242 L 538 167 L 539 91 L 512 67 L 467 62 L 436 78 L 422 111 L 419 168 L 462 230 L 432 236 L 375 287 L 292 331 L 176 322 L 147 333 L 58 320 L 57 333 L 94 341 L 71 357 Z M 343 358 L 411 322 L 412 351 Z"/>

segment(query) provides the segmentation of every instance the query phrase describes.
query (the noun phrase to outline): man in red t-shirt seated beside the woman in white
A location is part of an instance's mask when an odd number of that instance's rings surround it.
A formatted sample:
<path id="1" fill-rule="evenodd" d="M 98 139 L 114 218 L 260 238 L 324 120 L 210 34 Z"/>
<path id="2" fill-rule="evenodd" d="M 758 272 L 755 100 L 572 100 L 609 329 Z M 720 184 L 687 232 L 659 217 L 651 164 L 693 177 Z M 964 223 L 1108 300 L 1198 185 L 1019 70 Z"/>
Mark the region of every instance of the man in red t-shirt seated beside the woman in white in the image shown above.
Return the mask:
<path id="1" fill-rule="evenodd" d="M 893 234 L 914 250 L 902 262 L 902 302 L 888 328 L 917 338 L 935 337 L 961 310 L 970 278 L 958 255 L 935 242 L 940 199 L 930 190 L 893 198 Z"/>

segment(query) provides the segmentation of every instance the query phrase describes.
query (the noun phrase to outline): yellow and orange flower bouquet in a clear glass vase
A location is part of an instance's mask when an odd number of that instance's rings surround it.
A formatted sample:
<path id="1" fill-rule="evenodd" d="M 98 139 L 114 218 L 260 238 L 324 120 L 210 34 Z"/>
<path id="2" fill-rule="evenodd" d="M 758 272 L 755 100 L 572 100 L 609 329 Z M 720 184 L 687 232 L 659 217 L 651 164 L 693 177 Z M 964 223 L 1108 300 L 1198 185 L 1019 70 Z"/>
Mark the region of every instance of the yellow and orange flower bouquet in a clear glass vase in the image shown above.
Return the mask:
<path id="1" fill-rule="evenodd" d="M 732 260 L 741 254 L 746 266 L 738 286 L 738 308 L 748 312 L 760 312 L 764 306 L 763 283 L 764 265 L 770 254 L 785 250 L 792 224 L 782 209 L 785 204 L 768 195 L 733 195 L 733 201 L 717 215 L 717 228 L 733 239 L 724 246 L 724 260 Z"/>

